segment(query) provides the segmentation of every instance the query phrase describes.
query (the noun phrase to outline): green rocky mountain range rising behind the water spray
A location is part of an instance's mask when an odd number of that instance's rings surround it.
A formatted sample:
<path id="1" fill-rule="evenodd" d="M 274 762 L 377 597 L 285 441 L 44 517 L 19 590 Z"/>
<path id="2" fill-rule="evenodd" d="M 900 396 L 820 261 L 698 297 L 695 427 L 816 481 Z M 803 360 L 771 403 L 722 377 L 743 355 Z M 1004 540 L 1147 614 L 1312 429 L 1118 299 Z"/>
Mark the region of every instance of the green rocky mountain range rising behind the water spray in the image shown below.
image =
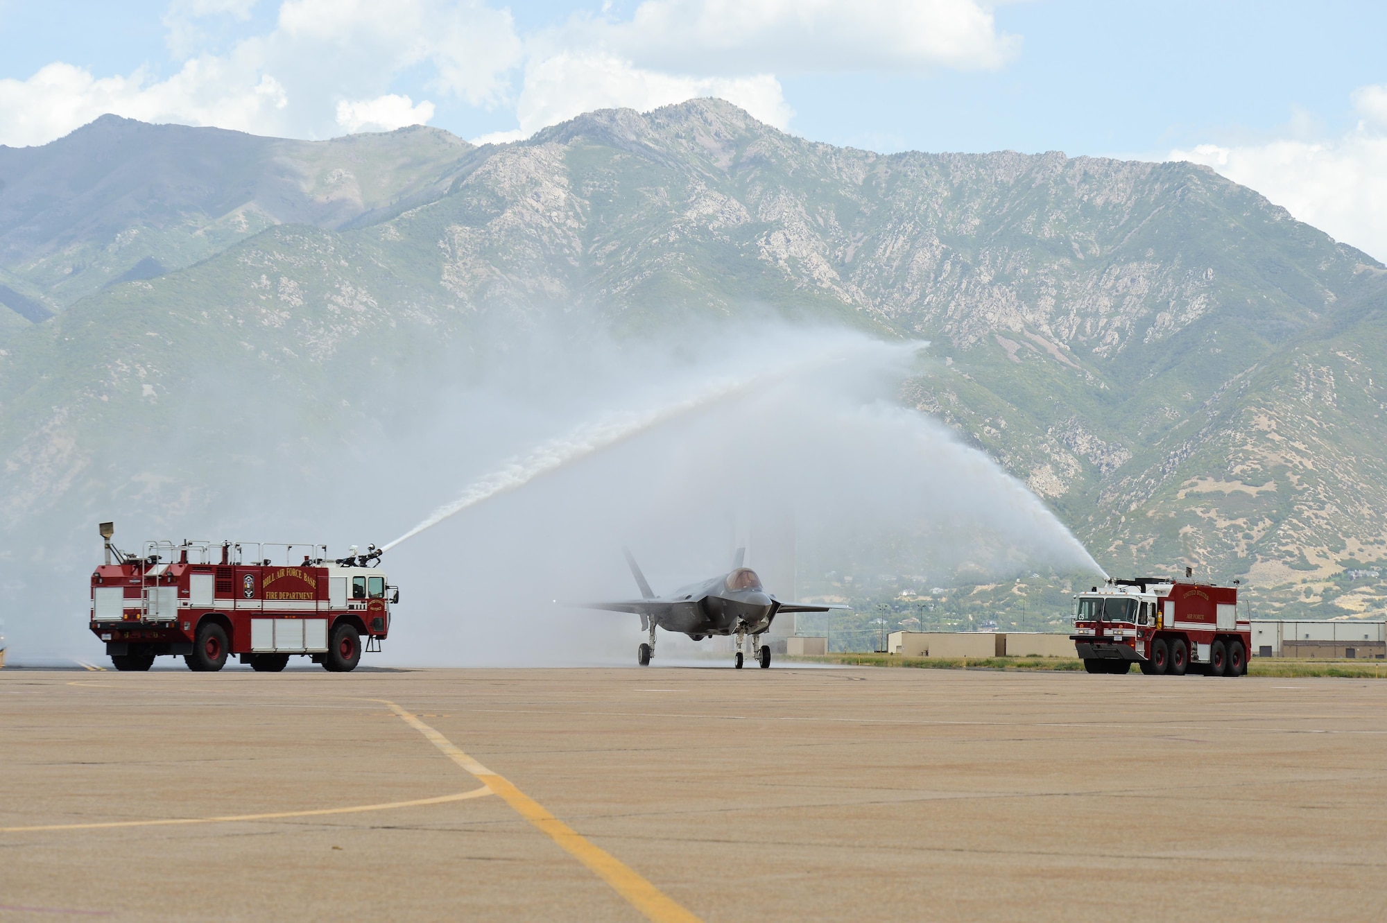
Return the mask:
<path id="1" fill-rule="evenodd" d="M 189 395 L 233 367 L 330 457 L 344 394 L 490 326 L 773 310 L 931 341 L 902 399 L 1110 572 L 1193 565 L 1268 614 L 1387 611 L 1387 269 L 1193 164 L 875 154 L 718 100 L 484 147 L 103 116 L 0 147 L 0 302 L 12 547 L 111 493 L 209 502 L 137 448 L 190 438 Z"/>

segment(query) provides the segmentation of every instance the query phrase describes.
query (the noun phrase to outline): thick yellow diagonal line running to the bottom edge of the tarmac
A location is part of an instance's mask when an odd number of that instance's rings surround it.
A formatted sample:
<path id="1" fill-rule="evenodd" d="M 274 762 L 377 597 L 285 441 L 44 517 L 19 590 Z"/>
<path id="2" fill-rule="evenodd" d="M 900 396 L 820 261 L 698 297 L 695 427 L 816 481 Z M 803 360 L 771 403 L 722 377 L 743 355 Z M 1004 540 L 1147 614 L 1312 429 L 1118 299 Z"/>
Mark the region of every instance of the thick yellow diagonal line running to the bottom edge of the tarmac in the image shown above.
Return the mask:
<path id="1" fill-rule="evenodd" d="M 585 840 L 577 830 L 549 814 L 544 805 L 516 789 L 506 777 L 491 772 L 459 750 L 451 740 L 419 721 L 388 698 L 373 698 L 388 705 L 401 719 L 438 747 L 449 759 L 476 776 L 487 789 L 501 795 L 516 814 L 533 823 L 569 855 L 588 866 L 599 879 L 612 886 L 627 902 L 656 923 L 698 923 L 698 917 L 670 899 L 632 868 L 606 850 Z"/>

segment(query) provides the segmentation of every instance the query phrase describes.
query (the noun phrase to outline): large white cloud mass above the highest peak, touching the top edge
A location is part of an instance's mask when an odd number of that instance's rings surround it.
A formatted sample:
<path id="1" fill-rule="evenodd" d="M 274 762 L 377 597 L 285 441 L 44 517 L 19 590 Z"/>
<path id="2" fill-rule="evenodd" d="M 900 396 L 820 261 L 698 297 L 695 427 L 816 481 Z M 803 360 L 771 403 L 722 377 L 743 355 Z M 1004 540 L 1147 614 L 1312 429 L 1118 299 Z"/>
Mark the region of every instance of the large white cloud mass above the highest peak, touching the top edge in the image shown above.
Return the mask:
<path id="1" fill-rule="evenodd" d="M 508 141 L 595 108 L 700 96 L 785 129 L 777 71 L 994 68 L 1018 42 L 975 0 L 646 0 L 627 21 L 576 15 L 534 36 Z"/>

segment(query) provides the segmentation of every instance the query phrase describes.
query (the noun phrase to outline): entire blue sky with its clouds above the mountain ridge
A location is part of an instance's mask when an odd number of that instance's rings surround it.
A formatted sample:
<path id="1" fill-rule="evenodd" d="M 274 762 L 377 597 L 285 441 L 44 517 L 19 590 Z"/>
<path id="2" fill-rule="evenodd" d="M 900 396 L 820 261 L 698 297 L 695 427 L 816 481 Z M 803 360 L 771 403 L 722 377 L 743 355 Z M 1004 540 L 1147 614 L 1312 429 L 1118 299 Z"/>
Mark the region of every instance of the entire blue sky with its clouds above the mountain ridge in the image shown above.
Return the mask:
<path id="1" fill-rule="evenodd" d="M 0 0 L 0 143 L 105 109 L 506 139 L 712 93 L 881 151 L 1198 159 L 1387 258 L 1383 36 L 1380 1 Z"/>

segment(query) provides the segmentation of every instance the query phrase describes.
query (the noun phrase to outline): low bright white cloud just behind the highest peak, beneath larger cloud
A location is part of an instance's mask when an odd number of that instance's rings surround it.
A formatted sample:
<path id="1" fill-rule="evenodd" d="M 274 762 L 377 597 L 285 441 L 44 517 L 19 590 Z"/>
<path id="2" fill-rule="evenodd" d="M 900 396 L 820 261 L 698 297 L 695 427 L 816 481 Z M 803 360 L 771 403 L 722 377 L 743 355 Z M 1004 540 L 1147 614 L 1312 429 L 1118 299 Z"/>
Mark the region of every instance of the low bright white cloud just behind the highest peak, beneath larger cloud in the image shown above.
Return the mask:
<path id="1" fill-rule="evenodd" d="M 649 111 L 670 103 L 716 96 L 757 119 L 786 128 L 792 115 L 779 82 L 768 73 L 691 78 L 644 71 L 610 54 L 556 54 L 526 67 L 517 115 L 522 137 L 592 109 Z M 509 139 L 508 139 L 509 140 Z"/>

